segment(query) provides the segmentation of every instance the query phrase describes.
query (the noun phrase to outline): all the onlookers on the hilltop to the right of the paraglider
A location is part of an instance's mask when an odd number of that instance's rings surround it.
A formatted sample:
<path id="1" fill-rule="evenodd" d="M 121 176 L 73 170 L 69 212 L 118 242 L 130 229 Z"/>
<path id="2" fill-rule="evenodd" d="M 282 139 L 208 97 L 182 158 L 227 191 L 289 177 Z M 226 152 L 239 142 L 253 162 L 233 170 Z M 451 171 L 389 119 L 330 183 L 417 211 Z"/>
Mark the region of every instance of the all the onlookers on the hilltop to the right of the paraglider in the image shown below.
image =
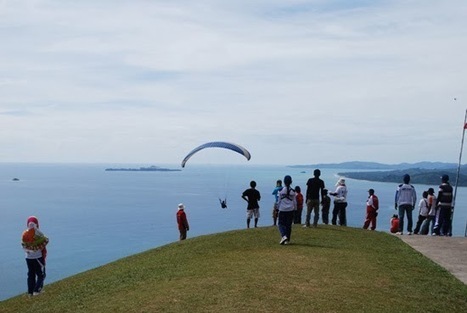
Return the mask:
<path id="1" fill-rule="evenodd" d="M 346 208 L 347 208 L 347 186 L 344 178 L 339 178 L 334 192 L 328 192 L 324 181 L 320 178 L 321 171 L 315 169 L 313 177 L 308 179 L 306 185 L 305 197 L 301 193 L 300 186 L 291 187 L 292 178 L 287 175 L 282 180 L 277 180 L 276 187 L 272 191 L 275 197 L 272 219 L 273 225 L 278 226 L 281 234 L 281 244 L 290 242 L 291 225 L 302 223 L 303 206 L 306 204 L 306 215 L 304 227 L 316 227 L 321 218 L 324 224 L 329 223 L 329 211 L 331 198 L 334 197 L 334 208 L 332 210 L 331 224 L 347 226 Z M 259 201 L 261 195 L 256 190 L 256 182 L 250 183 L 250 188 L 245 190 L 242 198 L 248 202 L 247 206 L 247 228 L 250 227 L 251 218 L 255 218 L 255 227 L 259 218 Z M 451 215 L 453 188 L 449 183 L 449 176 L 441 177 L 438 196 L 435 190 L 429 188 L 423 192 L 422 199 L 418 203 L 418 220 L 413 229 L 412 211 L 416 206 L 417 194 L 413 185 L 410 184 L 410 175 L 403 176 L 403 183 L 398 185 L 395 194 L 395 209 L 398 214 L 391 218 L 390 231 L 398 235 L 403 234 L 404 219 L 407 219 L 407 234 L 431 234 L 438 236 L 451 236 Z M 374 189 L 368 190 L 366 201 L 366 216 L 363 223 L 364 229 L 375 230 L 379 210 L 379 198 Z M 313 220 L 312 220 L 313 215 Z"/>

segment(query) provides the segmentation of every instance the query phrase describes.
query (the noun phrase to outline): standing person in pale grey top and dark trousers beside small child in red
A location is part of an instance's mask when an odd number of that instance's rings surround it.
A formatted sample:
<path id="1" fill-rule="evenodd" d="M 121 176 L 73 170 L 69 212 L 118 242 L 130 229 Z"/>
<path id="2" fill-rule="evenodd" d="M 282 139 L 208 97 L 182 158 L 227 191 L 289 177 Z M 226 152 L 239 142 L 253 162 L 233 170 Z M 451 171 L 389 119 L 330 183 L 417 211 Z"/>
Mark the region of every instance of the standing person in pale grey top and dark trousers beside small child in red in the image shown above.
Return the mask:
<path id="1" fill-rule="evenodd" d="M 404 216 L 407 214 L 407 234 L 412 235 L 412 211 L 417 201 L 417 193 L 414 186 L 410 185 L 410 175 L 405 174 L 403 184 L 400 184 L 396 190 L 395 209 L 399 210 L 399 231 L 397 235 L 402 235 L 404 230 Z"/>

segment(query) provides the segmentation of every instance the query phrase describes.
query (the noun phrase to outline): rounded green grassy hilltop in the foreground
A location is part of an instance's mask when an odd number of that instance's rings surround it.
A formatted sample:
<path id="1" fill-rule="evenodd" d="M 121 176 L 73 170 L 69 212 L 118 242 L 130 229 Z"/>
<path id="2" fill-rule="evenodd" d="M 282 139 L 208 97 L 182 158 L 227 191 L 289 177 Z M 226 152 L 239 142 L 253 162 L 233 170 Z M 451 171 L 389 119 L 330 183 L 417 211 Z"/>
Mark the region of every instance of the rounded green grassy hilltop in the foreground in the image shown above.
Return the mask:
<path id="1" fill-rule="evenodd" d="M 175 242 L 46 285 L 0 312 L 467 312 L 467 286 L 399 238 L 274 227 Z"/>

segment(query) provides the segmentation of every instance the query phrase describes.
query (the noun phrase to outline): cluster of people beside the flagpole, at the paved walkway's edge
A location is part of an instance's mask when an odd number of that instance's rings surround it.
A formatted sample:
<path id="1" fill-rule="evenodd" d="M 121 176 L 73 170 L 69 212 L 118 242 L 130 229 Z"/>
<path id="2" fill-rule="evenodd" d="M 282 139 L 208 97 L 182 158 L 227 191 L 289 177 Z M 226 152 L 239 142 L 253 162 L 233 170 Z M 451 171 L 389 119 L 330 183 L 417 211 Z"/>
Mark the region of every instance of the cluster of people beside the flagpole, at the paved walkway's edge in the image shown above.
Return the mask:
<path id="1" fill-rule="evenodd" d="M 398 214 L 391 218 L 392 233 L 403 235 L 404 219 L 407 217 L 407 234 L 433 236 L 452 236 L 453 188 L 449 183 L 449 176 L 441 176 L 438 195 L 433 188 L 423 191 L 422 199 L 418 202 L 418 220 L 413 229 L 412 212 L 416 207 L 417 193 L 410 184 L 410 175 L 405 174 L 403 183 L 396 191 L 395 209 Z"/>

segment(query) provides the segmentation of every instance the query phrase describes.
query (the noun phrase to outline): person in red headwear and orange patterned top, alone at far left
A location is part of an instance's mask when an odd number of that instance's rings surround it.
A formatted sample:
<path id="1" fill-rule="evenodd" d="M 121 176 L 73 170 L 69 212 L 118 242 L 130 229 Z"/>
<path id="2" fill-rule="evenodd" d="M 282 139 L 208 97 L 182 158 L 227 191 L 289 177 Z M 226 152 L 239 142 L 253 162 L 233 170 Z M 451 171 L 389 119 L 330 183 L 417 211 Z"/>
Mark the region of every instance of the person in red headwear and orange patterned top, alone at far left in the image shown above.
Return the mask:
<path id="1" fill-rule="evenodd" d="M 26 253 L 28 266 L 28 295 L 37 296 L 44 287 L 46 246 L 49 239 L 39 230 L 39 220 L 30 216 L 26 222 L 27 229 L 23 232 L 21 245 Z"/>

